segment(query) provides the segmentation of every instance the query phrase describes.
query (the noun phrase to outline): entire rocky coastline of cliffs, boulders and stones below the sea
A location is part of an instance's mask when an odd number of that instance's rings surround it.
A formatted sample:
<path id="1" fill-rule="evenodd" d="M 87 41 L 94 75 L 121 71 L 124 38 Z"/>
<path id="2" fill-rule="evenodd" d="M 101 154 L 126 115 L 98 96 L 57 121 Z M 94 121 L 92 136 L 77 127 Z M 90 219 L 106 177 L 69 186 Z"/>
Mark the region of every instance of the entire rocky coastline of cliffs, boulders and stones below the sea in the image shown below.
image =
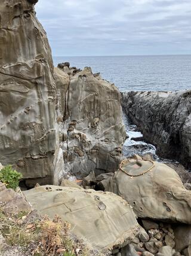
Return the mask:
<path id="1" fill-rule="evenodd" d="M 23 174 L 16 190 L 0 181 L 0 255 L 191 255 L 190 91 L 121 94 L 89 67 L 54 67 L 36 2 L 0 2 L 0 162 Z M 125 159 L 122 108 L 184 167 Z M 31 240 L 11 240 L 18 227 Z"/>

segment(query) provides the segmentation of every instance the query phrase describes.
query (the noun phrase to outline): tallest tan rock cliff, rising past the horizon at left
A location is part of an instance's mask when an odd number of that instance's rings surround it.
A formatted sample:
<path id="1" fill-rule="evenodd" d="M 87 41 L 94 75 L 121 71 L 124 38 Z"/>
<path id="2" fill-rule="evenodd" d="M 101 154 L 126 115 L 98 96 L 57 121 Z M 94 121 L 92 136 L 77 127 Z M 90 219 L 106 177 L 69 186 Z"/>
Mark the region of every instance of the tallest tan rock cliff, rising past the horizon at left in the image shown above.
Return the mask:
<path id="1" fill-rule="evenodd" d="M 56 88 L 37 1 L 0 1 L 0 161 L 53 182 Z"/>

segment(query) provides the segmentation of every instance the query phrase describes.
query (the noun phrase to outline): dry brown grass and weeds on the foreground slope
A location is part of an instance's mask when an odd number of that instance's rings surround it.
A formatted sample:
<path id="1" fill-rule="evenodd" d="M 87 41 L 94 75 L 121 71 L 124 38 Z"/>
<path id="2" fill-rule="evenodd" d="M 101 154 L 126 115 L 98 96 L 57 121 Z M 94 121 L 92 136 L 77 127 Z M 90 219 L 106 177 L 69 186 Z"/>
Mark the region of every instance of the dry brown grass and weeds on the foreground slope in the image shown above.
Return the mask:
<path id="1" fill-rule="evenodd" d="M 29 213 L 10 215 L 0 209 L 0 231 L 5 238 L 5 250 L 16 247 L 21 255 L 34 256 L 90 256 L 90 249 L 70 231 L 70 224 L 58 216 L 53 220 L 44 216 L 41 220 L 27 222 Z"/>

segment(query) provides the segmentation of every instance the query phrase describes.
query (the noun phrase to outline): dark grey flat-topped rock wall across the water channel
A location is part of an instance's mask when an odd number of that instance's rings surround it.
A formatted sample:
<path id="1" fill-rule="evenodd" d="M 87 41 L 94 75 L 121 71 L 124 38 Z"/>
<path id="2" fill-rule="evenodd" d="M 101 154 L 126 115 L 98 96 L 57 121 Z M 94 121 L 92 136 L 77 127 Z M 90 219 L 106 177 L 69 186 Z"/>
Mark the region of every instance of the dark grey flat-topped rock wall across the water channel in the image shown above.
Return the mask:
<path id="1" fill-rule="evenodd" d="M 191 91 L 125 92 L 122 107 L 163 158 L 191 167 Z"/>

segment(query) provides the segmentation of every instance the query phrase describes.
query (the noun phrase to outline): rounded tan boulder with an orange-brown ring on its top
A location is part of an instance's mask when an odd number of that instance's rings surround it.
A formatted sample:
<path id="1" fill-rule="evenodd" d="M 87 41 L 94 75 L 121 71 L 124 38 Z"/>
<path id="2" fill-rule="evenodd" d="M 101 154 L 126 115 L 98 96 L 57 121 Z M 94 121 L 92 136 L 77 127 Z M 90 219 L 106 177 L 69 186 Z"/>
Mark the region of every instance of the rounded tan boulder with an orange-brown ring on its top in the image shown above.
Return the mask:
<path id="1" fill-rule="evenodd" d="M 125 159 L 110 179 L 107 191 L 127 200 L 140 218 L 191 224 L 191 191 L 165 164 Z"/>

